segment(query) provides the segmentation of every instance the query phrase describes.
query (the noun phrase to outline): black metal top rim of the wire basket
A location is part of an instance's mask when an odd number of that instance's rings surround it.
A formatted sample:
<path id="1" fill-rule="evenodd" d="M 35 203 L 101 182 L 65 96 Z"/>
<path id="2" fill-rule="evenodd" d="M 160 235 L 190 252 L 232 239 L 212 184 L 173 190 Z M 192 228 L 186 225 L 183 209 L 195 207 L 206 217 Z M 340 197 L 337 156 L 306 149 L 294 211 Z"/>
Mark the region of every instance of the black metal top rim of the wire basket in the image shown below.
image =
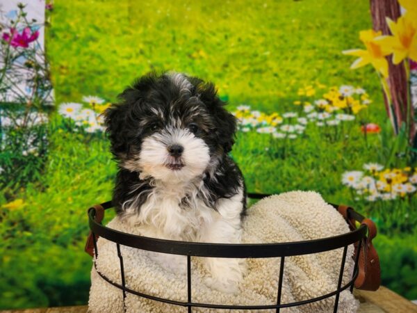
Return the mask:
<path id="1" fill-rule="evenodd" d="M 265 198 L 269 195 L 261 193 L 248 193 L 248 198 Z M 329 203 L 331 204 L 331 203 Z M 338 205 L 331 204 L 335 209 Z M 104 209 L 113 207 L 111 201 L 101 204 Z M 174 241 L 139 236 L 113 230 L 95 221 L 95 208 L 88 209 L 88 222 L 90 230 L 95 236 L 101 236 L 108 241 L 138 248 L 141 250 L 162 252 L 173 255 L 187 255 L 193 257 L 226 257 L 226 258 L 262 258 L 262 257 L 291 257 L 294 255 L 308 255 L 343 248 L 363 239 L 368 227 L 361 225 L 357 230 L 345 234 L 320 239 L 293 241 L 284 243 L 200 243 L 190 241 Z M 348 218 L 361 220 L 364 217 L 352 209 L 347 211 Z M 325 226 L 325 225 L 324 225 Z"/>

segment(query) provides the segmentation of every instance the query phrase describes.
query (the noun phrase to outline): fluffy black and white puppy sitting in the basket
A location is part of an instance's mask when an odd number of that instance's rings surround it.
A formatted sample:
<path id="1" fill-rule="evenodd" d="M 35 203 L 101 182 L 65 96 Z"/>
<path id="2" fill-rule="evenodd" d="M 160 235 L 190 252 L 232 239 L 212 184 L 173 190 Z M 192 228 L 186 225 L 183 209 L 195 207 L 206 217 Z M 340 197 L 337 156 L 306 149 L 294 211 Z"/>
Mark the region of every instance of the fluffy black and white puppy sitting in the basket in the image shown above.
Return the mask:
<path id="1" fill-rule="evenodd" d="M 179 73 L 138 79 L 105 112 L 119 163 L 113 201 L 120 218 L 144 236 L 239 243 L 245 214 L 243 176 L 228 153 L 236 119 L 212 83 Z M 155 254 L 178 271 L 182 256 Z M 211 287 L 236 291 L 237 259 L 206 258 Z"/>

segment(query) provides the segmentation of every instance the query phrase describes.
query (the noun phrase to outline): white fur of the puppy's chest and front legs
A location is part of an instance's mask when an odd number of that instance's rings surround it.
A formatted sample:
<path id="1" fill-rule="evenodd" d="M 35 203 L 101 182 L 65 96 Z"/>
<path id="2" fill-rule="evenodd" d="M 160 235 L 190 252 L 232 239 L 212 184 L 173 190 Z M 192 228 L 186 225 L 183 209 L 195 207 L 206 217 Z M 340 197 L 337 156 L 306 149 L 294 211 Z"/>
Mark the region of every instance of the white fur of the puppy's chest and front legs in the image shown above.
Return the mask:
<path id="1" fill-rule="evenodd" d="M 139 209 L 136 198 L 126 201 L 125 218 L 138 227 L 143 236 L 180 241 L 208 243 L 240 243 L 243 210 L 243 188 L 231 198 L 222 198 L 216 209 L 207 207 L 202 198 L 203 182 L 196 184 L 160 184 L 149 194 Z M 184 204 L 183 198 L 187 197 Z M 173 272 L 186 271 L 186 257 L 149 252 L 149 257 Z M 206 284 L 224 292 L 236 292 L 245 266 L 239 259 L 206 258 L 211 278 Z"/>

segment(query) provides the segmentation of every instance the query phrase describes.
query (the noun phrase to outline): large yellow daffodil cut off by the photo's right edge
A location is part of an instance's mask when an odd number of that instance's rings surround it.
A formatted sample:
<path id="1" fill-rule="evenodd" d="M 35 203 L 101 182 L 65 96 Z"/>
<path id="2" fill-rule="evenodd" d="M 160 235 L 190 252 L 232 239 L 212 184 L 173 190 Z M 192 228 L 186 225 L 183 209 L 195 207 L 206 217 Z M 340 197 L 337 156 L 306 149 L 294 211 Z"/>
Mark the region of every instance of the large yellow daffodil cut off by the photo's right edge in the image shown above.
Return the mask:
<path id="1" fill-rule="evenodd" d="M 394 64 L 407 57 L 417 61 L 417 27 L 409 16 L 399 17 L 397 23 L 386 17 L 386 23 L 393 35 L 380 36 L 376 40 L 382 49 L 393 54 Z"/>

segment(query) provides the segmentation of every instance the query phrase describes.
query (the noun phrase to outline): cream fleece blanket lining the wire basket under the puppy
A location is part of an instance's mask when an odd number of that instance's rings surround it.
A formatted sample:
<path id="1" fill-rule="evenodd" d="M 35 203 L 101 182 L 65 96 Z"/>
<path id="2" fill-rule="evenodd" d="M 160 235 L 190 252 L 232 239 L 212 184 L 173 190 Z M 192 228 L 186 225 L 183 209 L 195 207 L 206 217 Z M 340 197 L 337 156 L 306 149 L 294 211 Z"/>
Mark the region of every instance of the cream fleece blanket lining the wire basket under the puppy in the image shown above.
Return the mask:
<path id="1" fill-rule="evenodd" d="M 117 217 L 107 225 L 115 230 L 138 234 Z M 260 200 L 248 209 L 243 224 L 243 243 L 274 243 L 320 239 L 349 232 L 342 216 L 315 192 L 292 191 Z M 100 238 L 97 268 L 121 284 L 120 263 L 115 243 Z M 171 273 L 152 262 L 147 253 L 122 246 L 127 287 L 145 294 L 173 300 L 187 300 L 185 273 Z M 353 247 L 347 250 L 343 284 L 352 277 Z M 281 303 L 315 298 L 336 290 L 343 248 L 314 255 L 286 257 Z M 277 300 L 280 258 L 246 259 L 247 272 L 238 294 L 223 294 L 204 284 L 207 277 L 202 258 L 192 257 L 193 302 L 233 305 L 270 305 Z M 123 312 L 122 291 L 104 281 L 92 268 L 90 312 Z M 127 294 L 127 312 L 187 312 L 186 307 L 158 303 Z M 281 312 L 333 312 L 334 296 Z M 341 293 L 338 312 L 357 312 L 359 302 L 349 291 Z M 193 307 L 193 312 L 256 312 L 209 310 Z M 275 312 L 263 310 L 260 312 Z"/>

